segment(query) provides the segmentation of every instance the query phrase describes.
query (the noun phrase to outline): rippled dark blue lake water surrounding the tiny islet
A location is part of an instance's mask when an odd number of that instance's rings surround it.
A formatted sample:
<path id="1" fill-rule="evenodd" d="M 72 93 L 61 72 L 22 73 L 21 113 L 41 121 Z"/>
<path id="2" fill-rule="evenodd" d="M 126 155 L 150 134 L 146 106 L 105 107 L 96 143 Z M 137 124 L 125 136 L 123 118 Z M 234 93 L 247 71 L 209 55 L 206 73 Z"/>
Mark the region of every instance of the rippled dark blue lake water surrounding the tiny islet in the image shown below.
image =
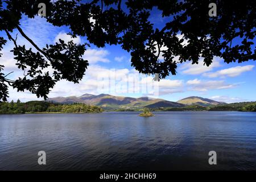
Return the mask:
<path id="1" fill-rule="evenodd" d="M 256 169 L 256 113 L 138 114 L 0 115 L 0 170 Z"/>

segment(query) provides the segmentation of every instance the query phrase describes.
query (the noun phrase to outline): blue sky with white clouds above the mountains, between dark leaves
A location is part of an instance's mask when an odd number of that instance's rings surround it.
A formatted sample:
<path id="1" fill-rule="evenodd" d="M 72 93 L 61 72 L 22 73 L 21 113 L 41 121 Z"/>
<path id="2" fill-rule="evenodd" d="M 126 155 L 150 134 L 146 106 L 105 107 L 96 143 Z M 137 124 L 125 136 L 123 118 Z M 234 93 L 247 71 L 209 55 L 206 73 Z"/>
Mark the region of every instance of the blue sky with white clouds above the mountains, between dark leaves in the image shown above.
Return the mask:
<path id="1" fill-rule="evenodd" d="M 152 13 L 150 20 L 155 27 L 163 27 L 166 22 L 157 11 Z M 60 38 L 66 42 L 71 40 L 67 35 L 69 32 L 67 27 L 54 27 L 40 16 L 35 19 L 23 16 L 20 27 L 40 48 L 45 47 L 46 44 L 54 44 Z M 15 37 L 16 34 L 18 34 L 18 44 L 34 49 L 18 32 L 14 31 L 11 35 Z M 0 32 L 0 36 L 7 40 L 4 32 Z M 86 39 L 77 37 L 73 42 L 85 43 Z M 13 42 L 7 42 L 0 57 L 0 64 L 5 65 L 4 73 L 14 72 L 8 76 L 9 79 L 23 76 L 23 71 L 16 67 L 16 61 L 10 52 L 13 46 Z M 153 75 L 140 74 L 131 67 L 130 53 L 120 46 L 106 45 L 104 48 L 97 48 L 91 45 L 86 49 L 83 58 L 89 61 L 89 67 L 80 83 L 73 84 L 61 80 L 51 90 L 49 98 L 104 93 L 114 96 L 149 96 L 168 101 L 177 101 L 189 96 L 228 103 L 256 101 L 256 62 L 253 60 L 240 64 L 226 64 L 220 57 L 214 57 L 210 67 L 204 66 L 202 60 L 198 65 L 186 62 L 177 65 L 177 75 L 170 75 L 156 82 L 153 81 Z M 22 102 L 42 100 L 30 92 L 16 92 L 13 88 L 9 88 L 9 96 L 9 101 L 16 101 L 18 98 Z"/>

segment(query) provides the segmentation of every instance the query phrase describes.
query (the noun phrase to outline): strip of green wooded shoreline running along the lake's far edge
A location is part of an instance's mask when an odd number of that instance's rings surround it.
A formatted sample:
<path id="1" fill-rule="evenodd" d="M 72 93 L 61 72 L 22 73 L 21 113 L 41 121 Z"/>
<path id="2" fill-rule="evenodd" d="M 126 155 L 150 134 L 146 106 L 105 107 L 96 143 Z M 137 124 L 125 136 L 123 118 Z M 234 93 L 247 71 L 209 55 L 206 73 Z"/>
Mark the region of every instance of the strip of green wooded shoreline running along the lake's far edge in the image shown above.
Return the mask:
<path id="1" fill-rule="evenodd" d="M 147 107 L 138 109 L 102 109 L 100 106 L 75 104 L 56 104 L 45 101 L 30 102 L 1 102 L 0 114 L 62 114 L 62 113 L 102 113 L 103 111 L 143 111 Z M 256 102 L 240 102 L 225 105 L 184 107 L 147 108 L 148 111 L 256 111 Z"/>

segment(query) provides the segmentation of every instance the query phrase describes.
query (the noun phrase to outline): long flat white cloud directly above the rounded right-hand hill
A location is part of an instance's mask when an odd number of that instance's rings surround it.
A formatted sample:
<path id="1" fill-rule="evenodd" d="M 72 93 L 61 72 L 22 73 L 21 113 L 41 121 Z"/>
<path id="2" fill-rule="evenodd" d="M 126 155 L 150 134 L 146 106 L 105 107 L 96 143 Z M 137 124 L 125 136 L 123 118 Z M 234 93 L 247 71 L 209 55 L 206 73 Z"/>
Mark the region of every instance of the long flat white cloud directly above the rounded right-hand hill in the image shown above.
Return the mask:
<path id="1" fill-rule="evenodd" d="M 206 92 L 208 90 L 234 88 L 235 86 L 239 85 L 239 83 L 227 84 L 224 80 L 203 81 L 203 80 L 195 79 L 195 80 L 188 80 L 187 85 L 189 86 L 189 90 Z"/>

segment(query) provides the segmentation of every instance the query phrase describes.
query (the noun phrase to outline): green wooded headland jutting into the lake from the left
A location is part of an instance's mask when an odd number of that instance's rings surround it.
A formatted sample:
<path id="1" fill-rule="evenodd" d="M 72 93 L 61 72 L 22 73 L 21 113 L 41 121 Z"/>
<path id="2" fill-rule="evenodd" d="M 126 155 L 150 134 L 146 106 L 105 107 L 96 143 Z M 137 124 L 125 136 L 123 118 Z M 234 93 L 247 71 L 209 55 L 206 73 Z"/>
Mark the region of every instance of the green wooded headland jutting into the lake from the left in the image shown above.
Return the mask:
<path id="1" fill-rule="evenodd" d="M 53 104 L 44 101 L 0 102 L 0 114 L 24 113 L 101 113 L 103 109 L 86 104 Z"/>

